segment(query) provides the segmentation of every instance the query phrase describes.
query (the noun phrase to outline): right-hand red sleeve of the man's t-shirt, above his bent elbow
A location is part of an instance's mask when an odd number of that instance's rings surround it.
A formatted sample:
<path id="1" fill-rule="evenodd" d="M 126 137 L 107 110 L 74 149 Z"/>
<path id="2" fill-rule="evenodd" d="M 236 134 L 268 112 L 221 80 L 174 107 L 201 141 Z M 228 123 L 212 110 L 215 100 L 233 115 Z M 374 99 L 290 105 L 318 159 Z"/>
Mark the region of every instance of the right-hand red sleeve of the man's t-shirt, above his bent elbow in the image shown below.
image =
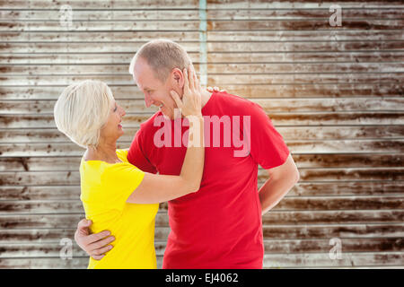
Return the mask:
<path id="1" fill-rule="evenodd" d="M 285 163 L 289 149 L 264 109 L 252 103 L 250 109 L 250 155 L 266 170 Z"/>

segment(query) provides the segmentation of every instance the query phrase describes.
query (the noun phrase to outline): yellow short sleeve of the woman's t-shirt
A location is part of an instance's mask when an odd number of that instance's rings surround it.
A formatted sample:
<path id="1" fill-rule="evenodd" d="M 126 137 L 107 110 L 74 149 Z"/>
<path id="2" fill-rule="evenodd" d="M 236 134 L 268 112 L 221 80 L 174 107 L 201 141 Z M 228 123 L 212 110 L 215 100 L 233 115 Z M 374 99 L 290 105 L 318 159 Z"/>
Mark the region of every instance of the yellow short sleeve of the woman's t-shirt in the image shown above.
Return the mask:
<path id="1" fill-rule="evenodd" d="M 104 170 L 101 185 L 105 207 L 122 211 L 127 198 L 140 185 L 143 178 L 145 178 L 145 172 L 129 163 L 114 164 Z"/>

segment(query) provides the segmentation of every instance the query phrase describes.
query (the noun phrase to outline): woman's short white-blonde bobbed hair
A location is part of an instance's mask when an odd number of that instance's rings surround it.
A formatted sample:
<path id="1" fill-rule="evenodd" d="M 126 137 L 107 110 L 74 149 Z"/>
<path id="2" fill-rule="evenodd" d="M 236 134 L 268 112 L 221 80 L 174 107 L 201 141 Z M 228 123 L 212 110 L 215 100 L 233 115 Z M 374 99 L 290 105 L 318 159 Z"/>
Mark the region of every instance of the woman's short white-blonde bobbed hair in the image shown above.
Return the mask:
<path id="1" fill-rule="evenodd" d="M 60 94 L 53 111 L 57 129 L 83 148 L 96 148 L 113 100 L 110 87 L 101 81 L 69 85 Z"/>

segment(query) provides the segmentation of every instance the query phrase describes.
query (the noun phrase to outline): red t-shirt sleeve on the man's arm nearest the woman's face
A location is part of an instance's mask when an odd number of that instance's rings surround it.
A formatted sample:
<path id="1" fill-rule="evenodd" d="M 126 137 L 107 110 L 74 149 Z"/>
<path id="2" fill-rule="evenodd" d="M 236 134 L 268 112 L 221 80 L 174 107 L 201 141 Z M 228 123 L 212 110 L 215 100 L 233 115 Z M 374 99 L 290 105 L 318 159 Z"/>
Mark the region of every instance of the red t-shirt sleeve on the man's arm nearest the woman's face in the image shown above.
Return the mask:
<path id="1" fill-rule="evenodd" d="M 142 128 L 140 128 L 130 144 L 129 151 L 127 152 L 127 161 L 135 165 L 140 170 L 150 173 L 157 173 L 154 165 L 147 159 L 145 153 L 145 144 L 145 136 Z"/>

